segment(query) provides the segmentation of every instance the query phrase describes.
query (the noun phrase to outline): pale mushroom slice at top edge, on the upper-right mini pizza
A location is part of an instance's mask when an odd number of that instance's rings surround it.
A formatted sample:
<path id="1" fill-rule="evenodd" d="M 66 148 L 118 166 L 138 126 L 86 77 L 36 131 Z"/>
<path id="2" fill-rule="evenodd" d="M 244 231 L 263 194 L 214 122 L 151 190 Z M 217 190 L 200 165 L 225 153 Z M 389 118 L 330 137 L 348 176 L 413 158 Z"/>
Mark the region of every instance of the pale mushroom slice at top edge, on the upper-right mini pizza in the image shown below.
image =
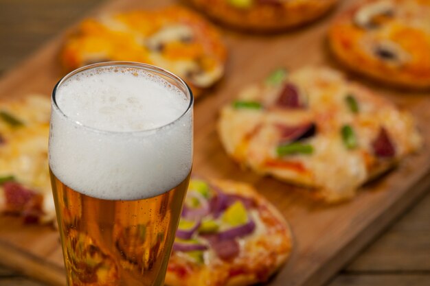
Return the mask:
<path id="1" fill-rule="evenodd" d="M 374 29 L 379 27 L 386 18 L 394 14 L 392 1 L 383 0 L 363 5 L 354 16 L 356 25 L 363 29 Z"/>

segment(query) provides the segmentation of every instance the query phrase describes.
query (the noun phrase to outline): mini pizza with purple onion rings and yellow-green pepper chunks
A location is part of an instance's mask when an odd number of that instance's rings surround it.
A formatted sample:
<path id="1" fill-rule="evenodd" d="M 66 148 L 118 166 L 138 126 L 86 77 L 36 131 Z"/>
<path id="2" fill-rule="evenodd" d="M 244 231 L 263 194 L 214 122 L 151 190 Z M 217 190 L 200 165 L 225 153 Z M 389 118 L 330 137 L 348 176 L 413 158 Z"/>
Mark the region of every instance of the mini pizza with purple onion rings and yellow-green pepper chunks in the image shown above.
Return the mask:
<path id="1" fill-rule="evenodd" d="M 248 184 L 190 180 L 166 274 L 170 286 L 267 281 L 291 252 L 282 215 Z"/>

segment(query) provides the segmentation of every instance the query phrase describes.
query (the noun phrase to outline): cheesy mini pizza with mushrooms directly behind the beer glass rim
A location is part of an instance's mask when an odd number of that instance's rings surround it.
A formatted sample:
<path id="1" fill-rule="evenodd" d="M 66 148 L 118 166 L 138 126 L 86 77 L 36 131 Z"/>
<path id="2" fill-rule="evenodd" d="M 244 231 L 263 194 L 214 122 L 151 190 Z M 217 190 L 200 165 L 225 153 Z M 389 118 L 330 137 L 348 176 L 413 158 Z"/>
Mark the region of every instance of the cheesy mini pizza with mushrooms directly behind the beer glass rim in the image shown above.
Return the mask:
<path id="1" fill-rule="evenodd" d="M 171 6 L 83 21 L 60 53 L 67 70 L 110 60 L 172 71 L 196 96 L 223 76 L 226 50 L 215 27 L 190 10 Z"/>

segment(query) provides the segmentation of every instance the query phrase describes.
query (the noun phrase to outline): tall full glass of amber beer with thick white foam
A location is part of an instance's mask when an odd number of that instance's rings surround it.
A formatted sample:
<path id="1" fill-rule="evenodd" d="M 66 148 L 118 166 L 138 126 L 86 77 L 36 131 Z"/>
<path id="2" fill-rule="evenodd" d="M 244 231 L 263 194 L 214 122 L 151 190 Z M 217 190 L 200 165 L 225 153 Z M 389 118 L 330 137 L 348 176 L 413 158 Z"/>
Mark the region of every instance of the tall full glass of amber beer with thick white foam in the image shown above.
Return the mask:
<path id="1" fill-rule="evenodd" d="M 190 88 L 104 62 L 52 93 L 49 170 L 67 283 L 163 285 L 192 167 Z"/>

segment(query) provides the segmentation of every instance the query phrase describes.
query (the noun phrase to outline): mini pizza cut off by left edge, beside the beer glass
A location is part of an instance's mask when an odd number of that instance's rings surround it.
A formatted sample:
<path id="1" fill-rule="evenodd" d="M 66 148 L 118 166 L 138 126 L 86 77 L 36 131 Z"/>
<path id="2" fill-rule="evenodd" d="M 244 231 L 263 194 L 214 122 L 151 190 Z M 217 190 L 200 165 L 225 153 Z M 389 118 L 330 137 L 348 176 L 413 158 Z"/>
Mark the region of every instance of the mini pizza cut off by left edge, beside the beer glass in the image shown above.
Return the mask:
<path id="1" fill-rule="evenodd" d="M 26 223 L 52 222 L 48 169 L 49 97 L 0 102 L 0 213 Z"/>

